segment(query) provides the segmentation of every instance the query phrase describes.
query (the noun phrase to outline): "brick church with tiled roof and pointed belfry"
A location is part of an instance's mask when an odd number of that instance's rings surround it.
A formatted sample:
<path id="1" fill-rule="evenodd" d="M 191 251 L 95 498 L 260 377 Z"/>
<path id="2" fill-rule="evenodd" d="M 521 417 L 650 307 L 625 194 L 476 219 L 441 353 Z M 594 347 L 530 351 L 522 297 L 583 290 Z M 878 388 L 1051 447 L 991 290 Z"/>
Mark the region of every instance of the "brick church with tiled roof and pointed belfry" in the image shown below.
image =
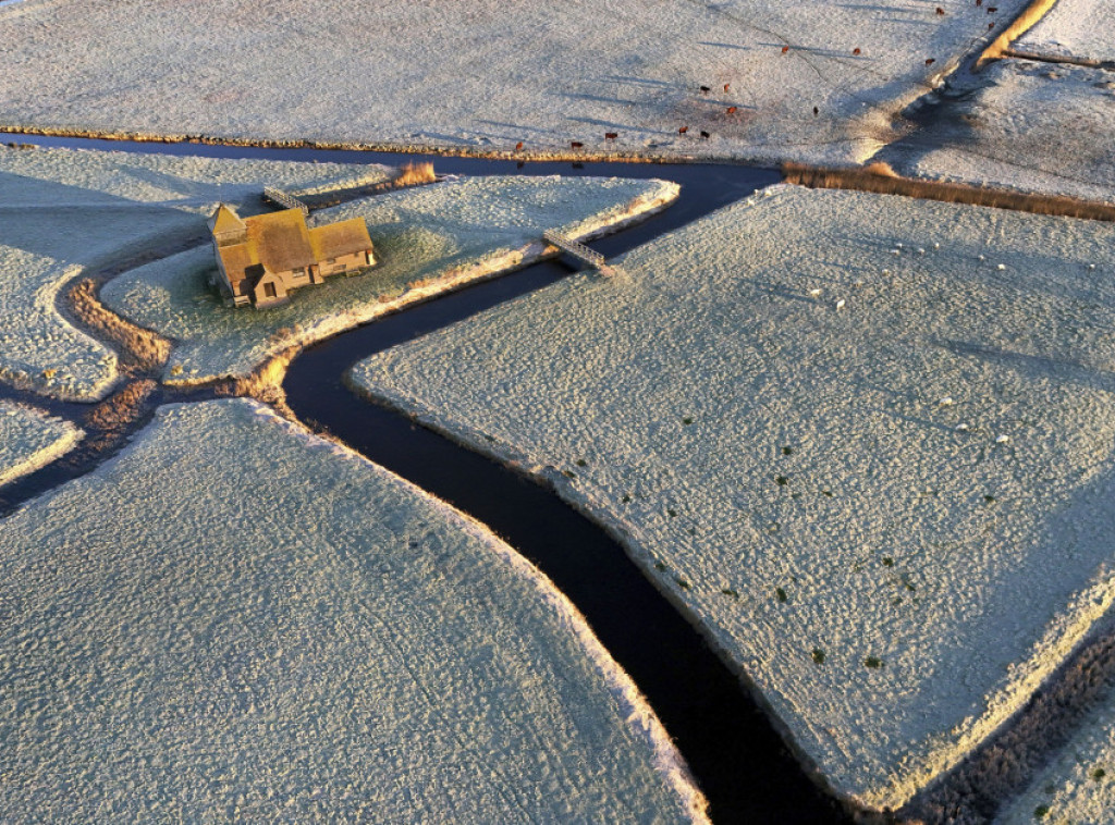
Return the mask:
<path id="1" fill-rule="evenodd" d="M 214 285 L 235 307 L 282 303 L 293 289 L 376 263 L 360 217 L 311 229 L 300 210 L 240 217 L 221 204 L 209 226 L 217 263 Z"/>

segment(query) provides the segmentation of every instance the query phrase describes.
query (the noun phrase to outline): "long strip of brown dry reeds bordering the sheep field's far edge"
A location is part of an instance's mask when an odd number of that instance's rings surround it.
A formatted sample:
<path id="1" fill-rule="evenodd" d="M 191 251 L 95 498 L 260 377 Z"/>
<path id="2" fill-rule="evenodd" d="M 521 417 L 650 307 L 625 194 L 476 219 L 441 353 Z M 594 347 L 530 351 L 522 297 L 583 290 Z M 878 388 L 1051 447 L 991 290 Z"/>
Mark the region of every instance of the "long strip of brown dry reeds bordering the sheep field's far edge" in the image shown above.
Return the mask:
<path id="1" fill-rule="evenodd" d="M 1080 201 L 1065 195 L 1029 195 L 1022 192 L 989 190 L 963 183 L 915 181 L 900 177 L 886 164 L 864 168 L 831 169 L 787 163 L 782 173 L 786 183 L 820 190 L 855 190 L 881 195 L 905 195 L 928 201 L 991 206 L 1038 215 L 1060 215 L 1092 221 L 1115 221 L 1115 205 Z"/>

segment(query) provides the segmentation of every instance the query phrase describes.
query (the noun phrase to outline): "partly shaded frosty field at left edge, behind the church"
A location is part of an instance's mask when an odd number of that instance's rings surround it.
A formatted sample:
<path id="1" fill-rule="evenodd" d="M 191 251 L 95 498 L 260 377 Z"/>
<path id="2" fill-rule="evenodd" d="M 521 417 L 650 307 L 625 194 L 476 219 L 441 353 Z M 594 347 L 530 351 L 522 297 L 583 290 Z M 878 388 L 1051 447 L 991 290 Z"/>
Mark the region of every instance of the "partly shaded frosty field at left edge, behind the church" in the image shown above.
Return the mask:
<path id="1" fill-rule="evenodd" d="M 66 399 L 108 392 L 116 356 L 59 312 L 84 270 L 204 232 L 217 201 L 261 211 L 264 184 L 320 188 L 378 166 L 0 147 L 0 380 Z"/>

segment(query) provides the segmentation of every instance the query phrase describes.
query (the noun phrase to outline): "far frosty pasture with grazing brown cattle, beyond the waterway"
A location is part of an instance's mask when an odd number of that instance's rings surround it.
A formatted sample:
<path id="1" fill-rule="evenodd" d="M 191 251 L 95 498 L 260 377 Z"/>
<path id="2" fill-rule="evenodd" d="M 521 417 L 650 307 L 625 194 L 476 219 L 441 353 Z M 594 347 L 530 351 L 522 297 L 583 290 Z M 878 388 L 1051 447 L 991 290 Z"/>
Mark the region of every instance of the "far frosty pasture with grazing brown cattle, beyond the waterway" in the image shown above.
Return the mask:
<path id="1" fill-rule="evenodd" d="M 1025 4 L 27 0 L 0 123 L 850 163 Z"/>

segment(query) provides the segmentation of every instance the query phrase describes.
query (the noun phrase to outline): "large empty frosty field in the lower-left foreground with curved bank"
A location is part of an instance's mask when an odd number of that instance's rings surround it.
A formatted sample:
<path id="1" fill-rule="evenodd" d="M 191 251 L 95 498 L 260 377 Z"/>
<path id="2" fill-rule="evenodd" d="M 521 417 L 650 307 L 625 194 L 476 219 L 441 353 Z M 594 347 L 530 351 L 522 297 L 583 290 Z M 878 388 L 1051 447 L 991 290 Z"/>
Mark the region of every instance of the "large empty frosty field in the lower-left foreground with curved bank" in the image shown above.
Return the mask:
<path id="1" fill-rule="evenodd" d="M 0 615 L 8 819 L 702 819 L 549 580 L 254 402 L 0 521 Z"/>

